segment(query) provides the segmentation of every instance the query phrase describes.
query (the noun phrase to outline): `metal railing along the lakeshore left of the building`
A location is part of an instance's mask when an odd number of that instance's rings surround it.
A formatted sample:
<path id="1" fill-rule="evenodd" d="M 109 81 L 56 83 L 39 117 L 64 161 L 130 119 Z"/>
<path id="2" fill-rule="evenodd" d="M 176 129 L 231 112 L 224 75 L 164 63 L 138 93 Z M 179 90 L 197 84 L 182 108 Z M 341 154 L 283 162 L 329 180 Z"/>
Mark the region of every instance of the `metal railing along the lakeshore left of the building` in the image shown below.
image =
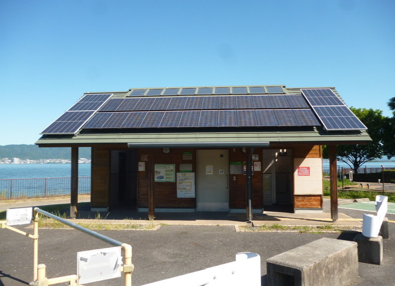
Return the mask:
<path id="1" fill-rule="evenodd" d="M 71 178 L 0 179 L 0 200 L 70 195 Z M 90 194 L 90 177 L 78 178 L 78 193 Z"/>

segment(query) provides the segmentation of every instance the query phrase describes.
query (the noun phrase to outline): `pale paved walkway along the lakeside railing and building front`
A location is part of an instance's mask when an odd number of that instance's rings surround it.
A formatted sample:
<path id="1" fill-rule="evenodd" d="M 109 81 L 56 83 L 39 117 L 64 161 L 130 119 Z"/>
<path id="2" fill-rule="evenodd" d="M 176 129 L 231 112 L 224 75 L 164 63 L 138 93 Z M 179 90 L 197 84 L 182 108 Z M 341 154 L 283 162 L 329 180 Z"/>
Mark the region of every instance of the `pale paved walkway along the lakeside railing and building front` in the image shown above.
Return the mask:
<path id="1" fill-rule="evenodd" d="M 79 203 L 89 202 L 89 197 L 80 197 Z M 23 200 L 23 201 L 8 201 L 0 202 L 0 212 L 8 208 L 23 208 L 23 207 L 40 207 L 48 205 L 69 204 L 70 198 L 51 198 Z M 263 214 L 253 214 L 253 224 L 258 225 L 335 225 L 335 226 L 350 226 L 360 228 L 361 221 L 339 212 L 339 218 L 333 222 L 330 215 L 330 201 L 324 199 L 324 213 L 318 214 L 293 214 L 290 212 L 272 212 L 264 211 Z M 95 212 L 90 212 L 83 207 L 79 210 L 79 217 L 81 219 L 74 220 L 75 222 L 84 221 L 84 219 L 94 218 L 97 215 Z M 148 220 L 147 213 L 138 213 L 130 210 L 115 210 L 109 213 L 101 213 L 101 217 L 106 217 L 105 220 L 95 220 L 96 222 L 115 222 L 124 223 L 124 218 L 132 219 L 139 224 L 169 224 L 169 225 L 248 225 L 246 222 L 246 214 L 230 214 L 226 212 L 198 212 L 198 213 L 156 213 L 154 220 Z"/>

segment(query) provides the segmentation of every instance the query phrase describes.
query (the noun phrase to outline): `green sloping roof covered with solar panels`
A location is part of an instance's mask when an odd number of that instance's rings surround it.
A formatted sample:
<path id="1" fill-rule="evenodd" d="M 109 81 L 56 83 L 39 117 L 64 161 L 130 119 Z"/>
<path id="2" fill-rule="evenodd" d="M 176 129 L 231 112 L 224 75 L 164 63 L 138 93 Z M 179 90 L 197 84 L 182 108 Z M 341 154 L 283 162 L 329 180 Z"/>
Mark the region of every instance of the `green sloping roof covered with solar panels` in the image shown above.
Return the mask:
<path id="1" fill-rule="evenodd" d="M 37 144 L 264 146 L 366 143 L 366 127 L 333 87 L 131 88 L 85 93 Z"/>

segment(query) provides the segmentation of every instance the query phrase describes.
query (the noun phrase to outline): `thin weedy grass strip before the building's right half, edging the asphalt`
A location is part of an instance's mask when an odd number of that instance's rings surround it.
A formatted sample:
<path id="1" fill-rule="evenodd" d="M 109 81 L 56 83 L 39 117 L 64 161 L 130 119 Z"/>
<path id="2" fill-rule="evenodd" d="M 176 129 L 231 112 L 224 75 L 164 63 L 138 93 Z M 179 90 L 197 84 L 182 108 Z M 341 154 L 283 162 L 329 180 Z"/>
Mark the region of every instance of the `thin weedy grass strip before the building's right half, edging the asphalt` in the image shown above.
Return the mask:
<path id="1" fill-rule="evenodd" d="M 257 232 L 269 232 L 269 231 L 289 231 L 289 232 L 298 232 L 298 233 L 324 233 L 324 232 L 343 232 L 354 230 L 352 227 L 348 226 L 335 226 L 333 224 L 327 225 L 316 225 L 316 226 L 308 226 L 308 225 L 258 225 L 258 226 L 240 226 L 241 229 L 245 231 L 257 231 Z"/>

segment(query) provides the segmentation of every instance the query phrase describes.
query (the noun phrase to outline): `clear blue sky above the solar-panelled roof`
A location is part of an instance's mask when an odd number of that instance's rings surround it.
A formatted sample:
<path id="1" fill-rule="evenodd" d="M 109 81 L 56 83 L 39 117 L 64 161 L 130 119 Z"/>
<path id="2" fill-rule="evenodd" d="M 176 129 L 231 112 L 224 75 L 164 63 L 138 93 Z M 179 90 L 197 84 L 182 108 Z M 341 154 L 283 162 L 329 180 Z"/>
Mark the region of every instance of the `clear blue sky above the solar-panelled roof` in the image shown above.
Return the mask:
<path id="1" fill-rule="evenodd" d="M 394 0 L 0 0 L 0 145 L 131 87 L 334 86 L 392 116 L 394 15 Z"/>

